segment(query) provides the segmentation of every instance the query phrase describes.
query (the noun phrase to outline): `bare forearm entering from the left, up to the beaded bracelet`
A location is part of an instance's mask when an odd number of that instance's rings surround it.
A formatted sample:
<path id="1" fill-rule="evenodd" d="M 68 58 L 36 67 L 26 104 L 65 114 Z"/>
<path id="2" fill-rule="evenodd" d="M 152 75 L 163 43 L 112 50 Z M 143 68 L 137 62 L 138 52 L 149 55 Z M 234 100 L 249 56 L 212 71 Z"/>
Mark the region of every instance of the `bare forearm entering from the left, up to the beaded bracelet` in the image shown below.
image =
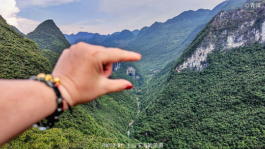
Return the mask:
<path id="1" fill-rule="evenodd" d="M 51 87 L 33 80 L 0 80 L 0 144 L 10 140 L 57 107 Z"/>

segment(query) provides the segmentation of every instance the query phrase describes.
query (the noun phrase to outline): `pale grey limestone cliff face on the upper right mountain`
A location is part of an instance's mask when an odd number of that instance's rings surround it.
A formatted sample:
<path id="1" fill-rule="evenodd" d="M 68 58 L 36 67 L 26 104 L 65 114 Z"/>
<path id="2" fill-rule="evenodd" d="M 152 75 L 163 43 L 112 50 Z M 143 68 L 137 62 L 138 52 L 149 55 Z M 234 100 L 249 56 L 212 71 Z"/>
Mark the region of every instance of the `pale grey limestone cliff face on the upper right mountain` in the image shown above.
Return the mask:
<path id="1" fill-rule="evenodd" d="M 176 67 L 176 71 L 181 72 L 183 69 L 203 70 L 208 65 L 207 54 L 213 50 L 226 51 L 255 42 L 264 44 L 264 14 L 264 5 L 252 12 L 243 9 L 220 12 L 206 25 L 208 27 L 207 35 L 200 39 L 201 41 L 199 38 L 195 38 L 193 43 L 196 46 L 186 49 L 193 50 L 193 52 L 183 58 L 184 61 Z M 188 51 L 183 53 L 185 52 Z"/>

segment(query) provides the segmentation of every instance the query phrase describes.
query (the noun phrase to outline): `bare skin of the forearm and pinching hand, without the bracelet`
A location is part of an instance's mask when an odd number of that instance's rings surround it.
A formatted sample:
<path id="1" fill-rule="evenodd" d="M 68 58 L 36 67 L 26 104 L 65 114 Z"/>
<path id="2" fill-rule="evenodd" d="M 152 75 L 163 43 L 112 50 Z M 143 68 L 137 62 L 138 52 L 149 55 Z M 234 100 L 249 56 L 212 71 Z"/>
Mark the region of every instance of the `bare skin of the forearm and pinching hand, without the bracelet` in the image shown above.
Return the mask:
<path id="1" fill-rule="evenodd" d="M 136 52 L 80 42 L 62 52 L 52 75 L 60 78 L 64 100 L 75 106 L 132 86 L 127 80 L 108 77 L 113 63 L 138 61 L 141 57 Z M 43 82 L 0 80 L 0 145 L 52 114 L 57 108 L 56 98 Z"/>

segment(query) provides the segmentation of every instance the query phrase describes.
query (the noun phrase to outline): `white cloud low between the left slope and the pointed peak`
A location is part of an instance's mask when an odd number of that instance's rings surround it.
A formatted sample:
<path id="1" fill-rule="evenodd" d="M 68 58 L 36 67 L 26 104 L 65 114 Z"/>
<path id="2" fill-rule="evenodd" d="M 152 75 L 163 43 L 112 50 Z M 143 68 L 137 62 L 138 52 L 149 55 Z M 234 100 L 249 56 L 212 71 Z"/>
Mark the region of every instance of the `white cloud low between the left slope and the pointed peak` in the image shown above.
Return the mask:
<path id="1" fill-rule="evenodd" d="M 34 31 L 34 29 L 41 23 L 38 21 L 34 21 L 31 19 L 26 19 L 26 18 L 20 18 L 20 17 L 18 17 L 17 20 L 18 20 L 18 24 L 21 28 L 20 31 L 24 34 L 28 34 L 32 31 Z"/>

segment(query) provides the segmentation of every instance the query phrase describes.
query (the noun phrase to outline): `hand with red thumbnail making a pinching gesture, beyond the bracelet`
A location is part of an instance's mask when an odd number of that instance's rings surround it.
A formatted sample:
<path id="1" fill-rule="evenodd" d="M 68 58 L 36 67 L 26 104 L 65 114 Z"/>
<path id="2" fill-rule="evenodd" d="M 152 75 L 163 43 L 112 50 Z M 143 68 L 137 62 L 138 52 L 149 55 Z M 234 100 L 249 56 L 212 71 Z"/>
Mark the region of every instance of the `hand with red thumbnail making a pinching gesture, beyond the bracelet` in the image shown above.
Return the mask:
<path id="1" fill-rule="evenodd" d="M 132 51 L 79 42 L 62 52 L 52 75 L 60 78 L 59 90 L 70 106 L 74 106 L 133 87 L 127 80 L 108 77 L 113 63 L 138 61 L 141 57 Z"/>

